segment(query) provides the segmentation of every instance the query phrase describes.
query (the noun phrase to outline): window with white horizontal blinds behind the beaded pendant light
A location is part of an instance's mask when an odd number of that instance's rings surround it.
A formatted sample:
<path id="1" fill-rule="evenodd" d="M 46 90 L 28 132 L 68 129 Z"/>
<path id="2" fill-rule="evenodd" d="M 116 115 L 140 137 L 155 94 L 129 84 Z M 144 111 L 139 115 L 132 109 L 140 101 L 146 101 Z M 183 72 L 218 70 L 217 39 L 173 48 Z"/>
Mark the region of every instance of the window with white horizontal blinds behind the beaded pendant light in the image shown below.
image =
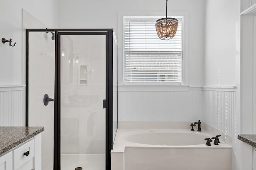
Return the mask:
<path id="1" fill-rule="evenodd" d="M 183 18 L 172 40 L 160 40 L 161 17 L 124 17 L 124 84 L 182 84 Z"/>

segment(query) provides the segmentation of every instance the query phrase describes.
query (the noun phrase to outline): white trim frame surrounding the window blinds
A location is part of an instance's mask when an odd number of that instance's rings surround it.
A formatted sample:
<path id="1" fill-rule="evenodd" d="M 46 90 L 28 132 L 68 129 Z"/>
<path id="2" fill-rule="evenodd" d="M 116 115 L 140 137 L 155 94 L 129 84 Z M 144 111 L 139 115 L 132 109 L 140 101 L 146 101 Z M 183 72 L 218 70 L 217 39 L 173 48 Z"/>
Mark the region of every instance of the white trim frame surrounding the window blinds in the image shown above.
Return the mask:
<path id="1" fill-rule="evenodd" d="M 155 82 L 125 82 L 125 45 L 124 45 L 124 41 L 125 41 L 125 32 L 124 32 L 124 20 L 125 19 L 138 19 L 138 18 L 145 18 L 145 19 L 151 19 L 151 18 L 165 18 L 165 16 L 122 16 L 122 85 L 174 85 L 174 86 L 182 86 L 186 84 L 186 81 L 184 83 L 184 30 L 186 30 L 185 28 L 185 22 L 184 22 L 184 18 L 185 15 L 176 15 L 176 16 L 172 16 L 173 18 L 181 18 L 182 19 L 182 57 L 181 57 L 181 82 L 164 82 L 164 81 L 155 81 Z M 163 40 L 164 41 L 164 40 Z M 186 53 L 186 52 L 185 52 Z"/>

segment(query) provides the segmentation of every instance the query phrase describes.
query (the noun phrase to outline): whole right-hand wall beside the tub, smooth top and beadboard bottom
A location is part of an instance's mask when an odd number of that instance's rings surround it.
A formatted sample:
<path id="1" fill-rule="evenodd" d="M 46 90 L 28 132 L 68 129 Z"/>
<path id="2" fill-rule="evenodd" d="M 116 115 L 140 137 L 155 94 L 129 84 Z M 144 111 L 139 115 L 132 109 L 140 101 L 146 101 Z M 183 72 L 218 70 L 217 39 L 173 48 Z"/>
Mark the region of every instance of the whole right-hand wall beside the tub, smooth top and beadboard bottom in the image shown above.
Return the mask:
<path id="1" fill-rule="evenodd" d="M 206 123 L 233 136 L 232 169 L 240 166 L 240 0 L 206 0 L 204 91 Z"/>

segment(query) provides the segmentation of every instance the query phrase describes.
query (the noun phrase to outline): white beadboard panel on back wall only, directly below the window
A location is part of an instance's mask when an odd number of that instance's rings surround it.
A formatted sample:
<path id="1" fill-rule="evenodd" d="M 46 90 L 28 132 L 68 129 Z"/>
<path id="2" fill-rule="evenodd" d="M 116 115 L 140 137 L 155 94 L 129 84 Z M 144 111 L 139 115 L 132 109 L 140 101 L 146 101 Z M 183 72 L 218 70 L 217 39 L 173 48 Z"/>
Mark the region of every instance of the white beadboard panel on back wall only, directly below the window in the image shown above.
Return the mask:
<path id="1" fill-rule="evenodd" d="M 118 91 L 118 121 L 196 121 L 202 117 L 202 90 Z"/>

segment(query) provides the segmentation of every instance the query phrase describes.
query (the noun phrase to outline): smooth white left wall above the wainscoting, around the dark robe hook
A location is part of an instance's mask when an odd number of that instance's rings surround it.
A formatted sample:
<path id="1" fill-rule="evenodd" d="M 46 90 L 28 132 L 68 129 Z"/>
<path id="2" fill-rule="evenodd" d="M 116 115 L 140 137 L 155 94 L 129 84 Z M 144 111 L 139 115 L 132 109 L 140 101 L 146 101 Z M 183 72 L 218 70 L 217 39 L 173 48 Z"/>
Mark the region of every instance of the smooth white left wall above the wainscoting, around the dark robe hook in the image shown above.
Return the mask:
<path id="1" fill-rule="evenodd" d="M 0 84 L 22 84 L 22 8 L 49 27 L 58 26 L 58 0 L 13 0 L 0 2 L 1 39 L 12 38 L 10 47 L 0 42 Z"/>

